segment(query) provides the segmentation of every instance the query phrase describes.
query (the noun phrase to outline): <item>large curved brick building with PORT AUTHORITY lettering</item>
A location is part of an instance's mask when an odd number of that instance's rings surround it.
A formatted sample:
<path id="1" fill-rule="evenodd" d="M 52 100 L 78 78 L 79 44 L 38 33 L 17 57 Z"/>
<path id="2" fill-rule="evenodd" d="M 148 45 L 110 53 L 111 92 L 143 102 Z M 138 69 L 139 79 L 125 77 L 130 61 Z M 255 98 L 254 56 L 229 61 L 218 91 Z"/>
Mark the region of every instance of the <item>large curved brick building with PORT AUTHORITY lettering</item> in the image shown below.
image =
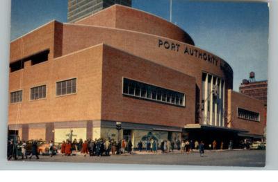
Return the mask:
<path id="1" fill-rule="evenodd" d="M 238 140 L 263 136 L 263 102 L 174 24 L 115 5 L 10 43 L 8 127 L 20 138 Z M 247 104 L 248 103 L 248 104 Z M 252 103 L 252 104 L 250 104 Z"/>

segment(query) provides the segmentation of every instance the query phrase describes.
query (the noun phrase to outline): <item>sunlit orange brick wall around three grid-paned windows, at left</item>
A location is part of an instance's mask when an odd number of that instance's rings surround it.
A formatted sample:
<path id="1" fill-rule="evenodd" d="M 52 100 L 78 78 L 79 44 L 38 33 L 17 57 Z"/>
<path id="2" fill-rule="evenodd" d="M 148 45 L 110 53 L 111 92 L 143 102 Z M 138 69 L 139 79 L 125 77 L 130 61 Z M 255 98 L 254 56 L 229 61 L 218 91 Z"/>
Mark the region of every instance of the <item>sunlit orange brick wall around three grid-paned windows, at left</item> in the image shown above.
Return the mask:
<path id="1" fill-rule="evenodd" d="M 28 61 L 24 69 L 10 73 L 10 91 L 23 89 L 23 100 L 9 105 L 9 125 L 99 120 L 101 60 L 102 45 L 99 45 L 34 66 Z M 56 82 L 70 78 L 77 78 L 76 94 L 57 97 Z M 42 84 L 47 85 L 46 98 L 30 100 L 31 87 Z"/>

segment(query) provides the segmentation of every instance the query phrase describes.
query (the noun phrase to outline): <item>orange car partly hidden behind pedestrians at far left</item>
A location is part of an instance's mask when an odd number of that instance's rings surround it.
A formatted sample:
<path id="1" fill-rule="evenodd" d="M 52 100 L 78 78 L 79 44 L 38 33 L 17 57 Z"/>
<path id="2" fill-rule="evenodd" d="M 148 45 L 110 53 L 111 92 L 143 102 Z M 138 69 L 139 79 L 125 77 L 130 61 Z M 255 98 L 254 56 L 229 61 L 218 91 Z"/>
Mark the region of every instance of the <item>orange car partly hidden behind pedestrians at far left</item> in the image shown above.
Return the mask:
<path id="1" fill-rule="evenodd" d="M 33 143 L 33 140 L 26 141 L 26 154 L 31 154 L 31 152 L 32 152 L 32 143 Z M 37 150 L 38 154 L 40 154 L 40 155 L 49 155 L 49 143 L 47 143 L 44 140 L 38 140 L 37 145 L 38 145 L 38 150 Z M 57 154 L 56 146 L 54 145 L 53 148 L 54 148 L 54 154 L 53 155 L 56 155 Z"/>

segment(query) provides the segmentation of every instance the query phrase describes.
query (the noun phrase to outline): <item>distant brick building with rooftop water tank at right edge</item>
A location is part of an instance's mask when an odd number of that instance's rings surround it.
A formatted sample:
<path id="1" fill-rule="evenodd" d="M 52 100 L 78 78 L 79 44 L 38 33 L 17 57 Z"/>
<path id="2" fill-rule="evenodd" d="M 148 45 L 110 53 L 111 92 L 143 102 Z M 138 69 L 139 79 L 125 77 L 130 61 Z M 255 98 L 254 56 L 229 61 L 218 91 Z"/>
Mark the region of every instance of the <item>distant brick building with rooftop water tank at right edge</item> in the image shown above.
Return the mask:
<path id="1" fill-rule="evenodd" d="M 250 73 L 249 80 L 243 80 L 240 84 L 239 91 L 252 98 L 263 100 L 263 103 L 266 106 L 268 100 L 268 81 L 256 81 L 254 72 Z"/>

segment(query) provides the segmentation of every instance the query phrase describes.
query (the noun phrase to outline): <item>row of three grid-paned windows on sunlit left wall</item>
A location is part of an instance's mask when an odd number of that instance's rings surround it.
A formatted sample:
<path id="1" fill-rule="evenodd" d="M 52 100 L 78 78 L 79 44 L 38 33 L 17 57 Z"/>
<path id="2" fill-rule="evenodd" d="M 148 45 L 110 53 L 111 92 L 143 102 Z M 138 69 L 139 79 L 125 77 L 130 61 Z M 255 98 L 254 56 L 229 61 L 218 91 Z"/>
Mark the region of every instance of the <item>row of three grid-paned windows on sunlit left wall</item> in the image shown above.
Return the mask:
<path id="1" fill-rule="evenodd" d="M 38 100 L 46 98 L 47 86 L 42 85 L 39 87 L 31 88 L 30 99 Z M 56 95 L 67 95 L 76 93 L 76 78 L 56 82 Z M 22 91 L 14 91 L 10 93 L 10 103 L 22 102 Z"/>

